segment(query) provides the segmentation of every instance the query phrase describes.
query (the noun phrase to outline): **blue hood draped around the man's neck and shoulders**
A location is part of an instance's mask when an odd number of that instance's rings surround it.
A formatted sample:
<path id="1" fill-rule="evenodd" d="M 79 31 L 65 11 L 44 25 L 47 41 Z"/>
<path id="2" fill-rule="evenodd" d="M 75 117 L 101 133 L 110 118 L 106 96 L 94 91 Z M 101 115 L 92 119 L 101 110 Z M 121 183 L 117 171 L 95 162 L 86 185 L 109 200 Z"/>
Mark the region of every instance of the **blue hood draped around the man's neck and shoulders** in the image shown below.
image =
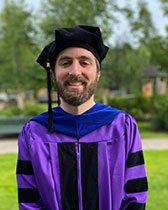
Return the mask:
<path id="1" fill-rule="evenodd" d="M 53 108 L 53 128 L 54 131 L 65 135 L 81 138 L 102 126 L 113 122 L 121 112 L 123 111 L 96 103 L 88 111 L 76 115 L 65 112 L 61 106 L 57 106 Z M 37 121 L 48 128 L 48 112 L 37 115 L 30 120 Z"/>

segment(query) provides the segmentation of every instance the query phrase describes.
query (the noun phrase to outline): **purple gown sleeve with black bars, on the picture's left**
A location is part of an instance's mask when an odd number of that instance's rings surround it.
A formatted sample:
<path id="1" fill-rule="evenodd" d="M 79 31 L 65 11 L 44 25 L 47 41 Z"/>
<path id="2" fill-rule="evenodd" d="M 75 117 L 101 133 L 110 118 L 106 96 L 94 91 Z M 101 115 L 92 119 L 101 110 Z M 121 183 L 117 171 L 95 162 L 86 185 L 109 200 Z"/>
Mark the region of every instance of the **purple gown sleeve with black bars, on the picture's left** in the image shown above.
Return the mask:
<path id="1" fill-rule="evenodd" d="M 32 141 L 29 123 L 23 126 L 18 138 L 16 169 L 19 210 L 47 210 L 40 198 L 29 153 Z"/>

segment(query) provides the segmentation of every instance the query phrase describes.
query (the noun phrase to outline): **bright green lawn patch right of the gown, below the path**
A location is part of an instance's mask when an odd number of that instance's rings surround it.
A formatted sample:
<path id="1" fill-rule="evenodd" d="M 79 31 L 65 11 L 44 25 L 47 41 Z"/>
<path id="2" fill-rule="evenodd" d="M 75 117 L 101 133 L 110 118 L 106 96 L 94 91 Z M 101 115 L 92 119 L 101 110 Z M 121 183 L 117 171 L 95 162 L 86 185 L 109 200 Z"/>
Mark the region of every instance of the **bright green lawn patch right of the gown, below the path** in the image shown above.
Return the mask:
<path id="1" fill-rule="evenodd" d="M 168 208 L 168 151 L 144 151 L 149 194 L 147 210 Z"/>

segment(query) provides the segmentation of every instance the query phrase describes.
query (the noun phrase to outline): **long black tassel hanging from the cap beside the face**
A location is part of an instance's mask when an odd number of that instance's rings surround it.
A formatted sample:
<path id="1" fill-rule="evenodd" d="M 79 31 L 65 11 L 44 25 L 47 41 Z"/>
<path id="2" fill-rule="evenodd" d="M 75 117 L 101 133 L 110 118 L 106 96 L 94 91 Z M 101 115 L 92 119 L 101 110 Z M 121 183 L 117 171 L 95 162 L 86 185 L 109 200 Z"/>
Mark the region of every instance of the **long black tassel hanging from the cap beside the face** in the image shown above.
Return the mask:
<path id="1" fill-rule="evenodd" d="M 52 100 L 51 100 L 51 75 L 50 62 L 47 60 L 47 87 L 48 87 L 48 132 L 53 132 L 53 115 L 52 115 Z"/>

